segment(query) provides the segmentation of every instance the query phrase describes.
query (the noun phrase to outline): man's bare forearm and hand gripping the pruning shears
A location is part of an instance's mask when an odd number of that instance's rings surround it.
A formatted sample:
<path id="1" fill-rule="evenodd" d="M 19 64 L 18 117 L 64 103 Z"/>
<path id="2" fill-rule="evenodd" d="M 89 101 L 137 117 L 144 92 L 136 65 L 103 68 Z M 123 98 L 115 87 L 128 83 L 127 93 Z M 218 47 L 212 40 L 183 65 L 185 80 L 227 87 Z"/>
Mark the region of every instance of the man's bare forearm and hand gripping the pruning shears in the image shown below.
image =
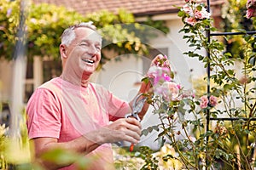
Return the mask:
<path id="1" fill-rule="evenodd" d="M 86 133 L 78 139 L 69 142 L 58 143 L 53 138 L 36 138 L 32 139 L 35 147 L 35 156 L 48 169 L 67 167 L 68 164 L 57 165 L 54 162 L 44 161 L 41 159 L 42 154 L 48 150 L 70 150 L 80 154 L 87 154 L 95 150 L 98 146 L 105 143 L 114 143 L 127 141 L 137 144 L 140 140 L 141 124 L 133 118 L 119 119 L 106 127 L 101 127 L 96 131 Z"/>

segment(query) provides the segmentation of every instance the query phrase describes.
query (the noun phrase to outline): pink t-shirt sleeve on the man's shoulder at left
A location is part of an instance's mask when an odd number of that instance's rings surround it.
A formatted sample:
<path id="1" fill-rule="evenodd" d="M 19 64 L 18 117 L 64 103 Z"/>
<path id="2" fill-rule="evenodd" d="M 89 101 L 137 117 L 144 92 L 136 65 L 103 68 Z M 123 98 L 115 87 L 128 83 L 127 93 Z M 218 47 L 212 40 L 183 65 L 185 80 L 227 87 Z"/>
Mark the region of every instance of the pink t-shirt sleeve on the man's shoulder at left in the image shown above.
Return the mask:
<path id="1" fill-rule="evenodd" d="M 26 107 L 29 139 L 48 137 L 59 139 L 61 131 L 61 107 L 55 95 L 46 88 L 38 88 Z"/>

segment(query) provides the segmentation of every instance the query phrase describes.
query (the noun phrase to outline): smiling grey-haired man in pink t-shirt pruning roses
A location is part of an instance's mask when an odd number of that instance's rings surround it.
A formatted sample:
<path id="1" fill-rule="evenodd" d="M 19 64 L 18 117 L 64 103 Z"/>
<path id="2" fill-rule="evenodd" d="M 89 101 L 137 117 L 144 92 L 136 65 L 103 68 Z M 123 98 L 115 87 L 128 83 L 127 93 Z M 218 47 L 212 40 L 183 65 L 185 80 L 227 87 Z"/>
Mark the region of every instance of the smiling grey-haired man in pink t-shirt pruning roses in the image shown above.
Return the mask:
<path id="1" fill-rule="evenodd" d="M 73 150 L 92 158 L 89 169 L 109 170 L 114 168 L 111 143 L 139 142 L 141 123 L 124 118 L 131 112 L 130 105 L 89 81 L 99 65 L 101 48 L 102 37 L 90 22 L 63 32 L 61 77 L 36 89 L 26 108 L 28 134 L 39 160 L 48 150 Z M 143 83 L 139 94 L 149 86 Z M 147 110 L 146 104 L 139 116 L 143 118 Z M 42 161 L 42 165 L 47 169 L 77 168 L 74 162 L 57 165 Z"/>

